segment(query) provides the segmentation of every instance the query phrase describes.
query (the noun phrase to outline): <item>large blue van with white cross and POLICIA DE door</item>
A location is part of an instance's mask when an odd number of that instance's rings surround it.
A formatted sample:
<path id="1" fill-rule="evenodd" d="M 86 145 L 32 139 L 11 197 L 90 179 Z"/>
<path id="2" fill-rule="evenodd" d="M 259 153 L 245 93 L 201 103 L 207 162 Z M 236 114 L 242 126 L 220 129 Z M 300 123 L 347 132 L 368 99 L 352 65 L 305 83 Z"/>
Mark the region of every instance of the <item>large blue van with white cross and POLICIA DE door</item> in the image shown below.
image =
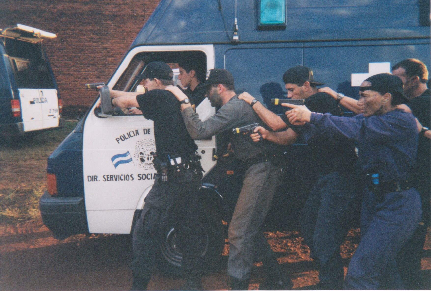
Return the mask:
<path id="1" fill-rule="evenodd" d="M 247 90 L 260 101 L 283 95 L 284 71 L 299 64 L 311 67 L 316 79 L 337 92 L 358 97 L 362 80 L 389 72 L 405 58 L 419 58 L 429 67 L 429 15 L 429 2 L 422 0 L 161 0 L 108 86 L 136 91 L 136 76 L 148 62 L 175 67 L 188 52 L 205 59 L 207 70 L 229 70 L 237 91 Z M 131 233 L 156 175 L 150 158 L 155 149 L 152 121 L 119 111 L 102 114 L 97 101 L 99 96 L 48 159 L 48 191 L 40 209 L 56 238 Z M 201 119 L 215 113 L 208 99 L 196 110 Z M 196 143 L 206 170 L 202 256 L 214 262 L 224 245 L 223 225 L 242 186 L 243 167 L 234 158 L 213 159 L 219 137 Z M 306 145 L 298 141 L 285 150 L 291 165 L 306 166 L 287 168 L 267 217 L 268 229 L 295 225 L 315 178 Z M 181 252 L 172 227 L 160 250 L 168 266 L 179 266 Z"/>

